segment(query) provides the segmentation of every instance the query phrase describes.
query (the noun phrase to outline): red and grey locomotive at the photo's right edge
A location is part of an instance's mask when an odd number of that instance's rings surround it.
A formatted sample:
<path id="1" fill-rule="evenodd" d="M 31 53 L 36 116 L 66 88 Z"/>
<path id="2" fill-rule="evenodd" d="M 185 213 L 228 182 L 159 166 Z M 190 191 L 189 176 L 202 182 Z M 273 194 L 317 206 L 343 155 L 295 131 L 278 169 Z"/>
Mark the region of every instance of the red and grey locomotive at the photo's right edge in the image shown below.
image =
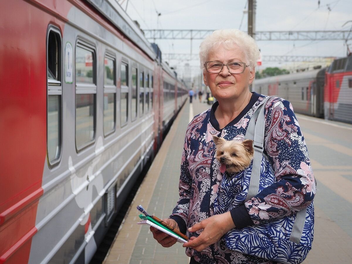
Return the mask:
<path id="1" fill-rule="evenodd" d="M 333 61 L 326 72 L 325 118 L 352 123 L 352 56 Z"/>

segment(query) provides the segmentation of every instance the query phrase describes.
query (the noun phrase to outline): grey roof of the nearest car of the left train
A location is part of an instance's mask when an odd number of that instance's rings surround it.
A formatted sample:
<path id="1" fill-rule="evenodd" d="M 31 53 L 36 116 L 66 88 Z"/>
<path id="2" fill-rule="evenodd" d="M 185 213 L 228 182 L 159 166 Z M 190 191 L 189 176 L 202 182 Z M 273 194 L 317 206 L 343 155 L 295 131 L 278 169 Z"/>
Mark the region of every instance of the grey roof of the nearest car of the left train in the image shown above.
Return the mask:
<path id="1" fill-rule="evenodd" d="M 116 0 L 87 0 L 111 23 L 113 23 L 122 33 L 132 40 L 140 49 L 142 49 L 153 60 L 157 54 L 152 48 L 151 43 L 146 39 L 140 28 L 126 14 L 125 10 Z"/>

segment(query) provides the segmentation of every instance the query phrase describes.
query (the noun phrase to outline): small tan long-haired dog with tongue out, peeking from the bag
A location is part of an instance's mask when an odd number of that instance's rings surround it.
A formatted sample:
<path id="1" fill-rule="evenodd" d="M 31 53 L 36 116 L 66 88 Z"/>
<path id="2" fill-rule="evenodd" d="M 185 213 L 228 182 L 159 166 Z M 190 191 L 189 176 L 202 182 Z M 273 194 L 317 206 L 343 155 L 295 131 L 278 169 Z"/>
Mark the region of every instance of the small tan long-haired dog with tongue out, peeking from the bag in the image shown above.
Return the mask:
<path id="1" fill-rule="evenodd" d="M 253 159 L 253 140 L 246 139 L 243 142 L 237 140 L 225 140 L 213 136 L 216 146 L 216 159 L 220 162 L 220 172 L 239 172 L 248 168 Z"/>

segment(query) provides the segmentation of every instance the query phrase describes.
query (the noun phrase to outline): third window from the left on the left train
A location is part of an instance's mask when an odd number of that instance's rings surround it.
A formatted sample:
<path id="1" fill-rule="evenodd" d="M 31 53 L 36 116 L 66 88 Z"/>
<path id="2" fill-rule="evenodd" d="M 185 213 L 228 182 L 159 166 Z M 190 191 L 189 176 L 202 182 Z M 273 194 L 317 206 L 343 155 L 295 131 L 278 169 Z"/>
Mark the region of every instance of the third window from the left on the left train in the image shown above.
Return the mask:
<path id="1" fill-rule="evenodd" d="M 115 131 L 116 120 L 116 66 L 115 58 L 104 58 L 104 101 L 103 131 L 104 136 Z"/>

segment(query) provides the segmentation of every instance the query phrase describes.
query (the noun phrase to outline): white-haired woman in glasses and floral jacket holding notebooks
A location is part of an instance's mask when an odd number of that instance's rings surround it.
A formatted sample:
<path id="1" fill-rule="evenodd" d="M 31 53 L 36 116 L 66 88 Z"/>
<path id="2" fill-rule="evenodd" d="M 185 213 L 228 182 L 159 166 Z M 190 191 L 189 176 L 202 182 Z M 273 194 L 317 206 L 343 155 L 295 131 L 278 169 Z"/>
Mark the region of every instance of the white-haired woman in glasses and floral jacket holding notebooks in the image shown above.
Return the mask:
<path id="1" fill-rule="evenodd" d="M 249 90 L 258 56 L 255 41 L 239 30 L 214 31 L 200 45 L 204 83 L 218 102 L 194 117 L 187 127 L 180 199 L 165 220 L 190 237 L 183 244 L 190 263 L 276 263 L 292 259 L 292 263 L 299 263 L 313 240 L 315 183 L 290 102 L 274 97 L 264 105 L 267 158 L 262 159 L 255 197 L 246 200 L 252 165 L 231 175 L 222 174 L 215 158 L 213 135 L 244 140 L 253 112 L 266 98 Z M 224 203 L 221 197 L 229 201 Z M 307 208 L 309 222 L 300 234 L 303 238 L 295 244 L 288 238 L 296 213 L 303 208 Z M 176 243 L 165 233 L 154 228 L 151 231 L 164 247 Z M 265 239 L 273 234 L 277 241 L 268 246 Z M 295 259 L 294 255 L 301 254 L 304 256 Z"/>

